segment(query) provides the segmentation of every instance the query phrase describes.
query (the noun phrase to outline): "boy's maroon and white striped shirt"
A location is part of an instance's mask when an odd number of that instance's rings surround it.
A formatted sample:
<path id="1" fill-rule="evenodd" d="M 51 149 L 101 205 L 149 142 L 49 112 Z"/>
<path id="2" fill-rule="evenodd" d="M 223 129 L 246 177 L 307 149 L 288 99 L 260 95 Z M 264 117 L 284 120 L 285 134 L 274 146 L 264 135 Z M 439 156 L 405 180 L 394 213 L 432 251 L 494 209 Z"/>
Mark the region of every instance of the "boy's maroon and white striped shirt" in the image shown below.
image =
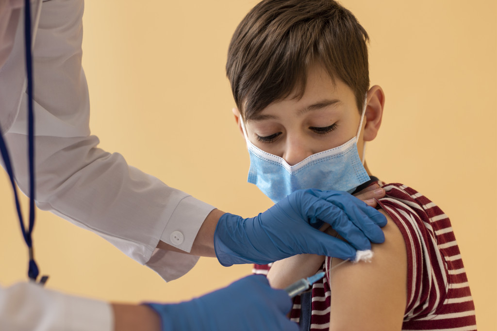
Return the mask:
<path id="1" fill-rule="evenodd" d="M 450 220 L 428 198 L 402 184 L 378 184 L 386 196 L 378 200 L 399 227 L 408 258 L 408 301 L 402 330 L 474 331 L 475 306 Z M 330 324 L 331 258 L 323 263 L 327 275 L 311 292 L 310 330 L 327 330 Z M 267 273 L 270 265 L 255 265 Z M 304 307 L 302 307 L 304 309 Z M 299 322 L 301 296 L 294 299 L 290 318 Z"/>

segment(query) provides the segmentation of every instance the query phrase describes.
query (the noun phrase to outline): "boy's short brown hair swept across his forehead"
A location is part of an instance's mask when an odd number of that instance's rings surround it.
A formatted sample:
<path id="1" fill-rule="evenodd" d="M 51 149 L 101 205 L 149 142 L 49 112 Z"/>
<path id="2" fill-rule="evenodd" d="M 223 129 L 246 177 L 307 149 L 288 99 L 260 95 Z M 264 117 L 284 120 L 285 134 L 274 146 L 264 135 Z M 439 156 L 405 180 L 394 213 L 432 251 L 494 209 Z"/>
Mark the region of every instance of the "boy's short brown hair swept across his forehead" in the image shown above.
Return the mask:
<path id="1" fill-rule="evenodd" d="M 308 68 L 320 63 L 353 91 L 359 111 L 369 88 L 369 37 L 333 0 L 263 0 L 238 25 L 226 72 L 238 109 L 250 119 L 270 103 L 305 91 Z"/>

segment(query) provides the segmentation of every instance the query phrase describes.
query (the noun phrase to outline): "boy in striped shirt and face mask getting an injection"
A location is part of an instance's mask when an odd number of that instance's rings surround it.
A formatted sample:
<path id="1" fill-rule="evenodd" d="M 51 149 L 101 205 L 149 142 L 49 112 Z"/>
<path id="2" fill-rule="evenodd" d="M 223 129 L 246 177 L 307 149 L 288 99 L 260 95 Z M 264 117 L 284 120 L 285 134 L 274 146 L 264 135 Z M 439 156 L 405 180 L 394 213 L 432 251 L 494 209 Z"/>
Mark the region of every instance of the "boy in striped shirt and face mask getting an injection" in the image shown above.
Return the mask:
<path id="1" fill-rule="evenodd" d="M 402 184 L 371 175 L 364 145 L 380 128 L 385 95 L 369 86 L 368 35 L 332 0 L 264 0 L 238 26 L 227 75 L 250 155 L 248 181 L 273 201 L 295 189 L 358 192 L 379 184 L 386 241 L 371 263 L 297 255 L 275 262 L 272 286 L 316 271 L 297 296 L 301 330 L 476 330 L 473 299 L 450 220 Z M 256 266 L 264 273 L 268 266 Z"/>

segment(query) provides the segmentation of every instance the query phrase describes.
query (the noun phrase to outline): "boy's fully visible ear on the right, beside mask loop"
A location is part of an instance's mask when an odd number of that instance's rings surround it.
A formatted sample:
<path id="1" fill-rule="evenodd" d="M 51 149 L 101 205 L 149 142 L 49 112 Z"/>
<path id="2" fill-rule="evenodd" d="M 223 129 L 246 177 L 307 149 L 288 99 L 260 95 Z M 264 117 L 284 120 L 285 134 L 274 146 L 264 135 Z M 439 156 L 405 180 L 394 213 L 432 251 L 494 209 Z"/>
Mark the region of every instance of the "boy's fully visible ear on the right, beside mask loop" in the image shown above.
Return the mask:
<path id="1" fill-rule="evenodd" d="M 383 106 L 385 105 L 385 93 L 383 89 L 374 85 L 368 91 L 366 113 L 364 114 L 364 141 L 371 141 L 376 138 L 380 129 L 383 117 Z"/>

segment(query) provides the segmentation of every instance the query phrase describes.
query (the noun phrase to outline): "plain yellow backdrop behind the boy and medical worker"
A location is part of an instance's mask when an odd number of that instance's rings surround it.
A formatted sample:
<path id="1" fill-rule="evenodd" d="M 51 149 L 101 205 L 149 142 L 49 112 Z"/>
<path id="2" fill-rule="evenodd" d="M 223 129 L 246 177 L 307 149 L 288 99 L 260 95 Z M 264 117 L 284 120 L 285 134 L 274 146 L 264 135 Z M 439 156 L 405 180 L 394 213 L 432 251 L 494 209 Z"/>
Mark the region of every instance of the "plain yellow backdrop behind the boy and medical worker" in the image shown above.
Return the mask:
<path id="1" fill-rule="evenodd" d="M 100 147 L 247 217 L 271 203 L 246 182 L 248 154 L 224 66 L 231 35 L 255 3 L 88 0 L 83 17 L 90 125 Z M 496 330 L 496 2 L 342 3 L 371 37 L 371 83 L 386 93 L 368 165 L 450 216 L 479 330 Z M 26 279 L 27 252 L 3 172 L 0 187 L 6 286 Z M 201 258 L 190 273 L 165 283 L 103 239 L 46 212 L 38 212 L 35 247 L 49 288 L 104 300 L 176 302 L 250 272 L 249 265 L 225 268 Z"/>

